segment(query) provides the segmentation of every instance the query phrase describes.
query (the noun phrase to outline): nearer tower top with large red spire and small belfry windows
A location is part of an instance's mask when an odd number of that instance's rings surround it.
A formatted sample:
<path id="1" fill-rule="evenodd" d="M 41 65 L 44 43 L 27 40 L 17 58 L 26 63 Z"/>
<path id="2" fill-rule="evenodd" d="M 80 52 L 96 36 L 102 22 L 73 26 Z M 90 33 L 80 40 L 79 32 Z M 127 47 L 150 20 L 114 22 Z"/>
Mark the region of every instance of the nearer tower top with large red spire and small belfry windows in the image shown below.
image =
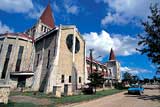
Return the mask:
<path id="1" fill-rule="evenodd" d="M 37 23 L 31 29 L 28 29 L 26 33 L 34 37 L 34 39 L 37 39 L 54 28 L 55 24 L 52 15 L 52 9 L 50 4 L 48 4 L 38 19 Z"/>

